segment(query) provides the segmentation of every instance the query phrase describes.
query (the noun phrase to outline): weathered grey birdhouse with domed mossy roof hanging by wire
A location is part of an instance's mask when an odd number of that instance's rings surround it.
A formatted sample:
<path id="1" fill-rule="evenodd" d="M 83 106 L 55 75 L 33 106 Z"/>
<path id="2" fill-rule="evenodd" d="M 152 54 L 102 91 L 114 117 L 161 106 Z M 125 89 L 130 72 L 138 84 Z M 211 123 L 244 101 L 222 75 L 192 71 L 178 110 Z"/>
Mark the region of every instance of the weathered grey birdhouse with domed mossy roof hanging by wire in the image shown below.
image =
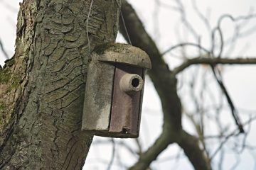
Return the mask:
<path id="1" fill-rule="evenodd" d="M 104 137 L 138 137 L 146 52 L 124 44 L 95 47 L 87 69 L 82 130 Z"/>

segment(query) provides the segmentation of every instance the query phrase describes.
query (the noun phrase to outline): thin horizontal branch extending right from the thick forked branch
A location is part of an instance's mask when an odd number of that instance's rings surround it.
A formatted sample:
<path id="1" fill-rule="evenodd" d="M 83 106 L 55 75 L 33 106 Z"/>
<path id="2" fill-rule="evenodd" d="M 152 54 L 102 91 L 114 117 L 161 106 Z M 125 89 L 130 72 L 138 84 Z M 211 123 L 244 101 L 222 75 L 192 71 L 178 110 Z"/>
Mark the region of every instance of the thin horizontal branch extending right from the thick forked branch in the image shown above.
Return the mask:
<path id="1" fill-rule="evenodd" d="M 206 57 L 196 57 L 190 60 L 186 60 L 180 66 L 176 67 L 173 71 L 173 74 L 178 74 L 179 72 L 183 71 L 190 67 L 193 64 L 256 64 L 256 58 L 242 58 L 238 57 L 235 59 L 230 58 L 206 58 Z"/>

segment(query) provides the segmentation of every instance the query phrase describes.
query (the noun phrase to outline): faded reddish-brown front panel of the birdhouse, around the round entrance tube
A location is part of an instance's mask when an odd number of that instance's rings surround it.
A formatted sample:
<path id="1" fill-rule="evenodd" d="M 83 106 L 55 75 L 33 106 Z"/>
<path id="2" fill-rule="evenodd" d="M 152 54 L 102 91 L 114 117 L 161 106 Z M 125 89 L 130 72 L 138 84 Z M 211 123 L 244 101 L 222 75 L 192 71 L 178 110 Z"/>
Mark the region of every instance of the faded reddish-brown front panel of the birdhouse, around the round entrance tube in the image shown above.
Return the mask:
<path id="1" fill-rule="evenodd" d="M 124 74 L 138 74 L 144 78 L 143 69 L 119 64 L 115 68 L 110 133 L 112 137 L 138 137 L 142 107 L 142 91 L 127 94 L 120 89 Z"/>

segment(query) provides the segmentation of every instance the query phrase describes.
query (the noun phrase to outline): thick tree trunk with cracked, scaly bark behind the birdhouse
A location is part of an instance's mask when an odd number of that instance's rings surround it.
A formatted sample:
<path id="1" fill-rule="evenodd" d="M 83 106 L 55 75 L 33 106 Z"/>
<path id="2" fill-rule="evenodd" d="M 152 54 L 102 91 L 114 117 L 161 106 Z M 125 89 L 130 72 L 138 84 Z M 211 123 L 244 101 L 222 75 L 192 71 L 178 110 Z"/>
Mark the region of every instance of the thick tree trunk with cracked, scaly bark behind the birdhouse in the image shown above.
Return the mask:
<path id="1" fill-rule="evenodd" d="M 117 1 L 23 1 L 15 55 L 0 69 L 0 169 L 82 169 L 87 61 L 114 42 L 118 17 Z"/>

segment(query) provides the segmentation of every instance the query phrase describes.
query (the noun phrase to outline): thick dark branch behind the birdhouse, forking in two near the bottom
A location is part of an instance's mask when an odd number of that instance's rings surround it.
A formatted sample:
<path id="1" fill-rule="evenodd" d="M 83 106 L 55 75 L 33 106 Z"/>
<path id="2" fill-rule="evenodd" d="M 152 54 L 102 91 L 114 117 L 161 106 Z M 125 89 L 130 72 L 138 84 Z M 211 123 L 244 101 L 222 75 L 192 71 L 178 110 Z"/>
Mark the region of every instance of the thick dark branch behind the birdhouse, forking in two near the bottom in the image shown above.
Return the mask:
<path id="1" fill-rule="evenodd" d="M 177 142 L 184 149 L 195 169 L 210 167 L 208 159 L 203 157 L 204 152 L 200 149 L 198 142 L 191 143 L 184 141 L 186 139 L 191 140 L 191 138 L 196 139 L 196 137 L 188 135 L 182 130 L 181 100 L 177 94 L 177 79 L 175 74 L 172 74 L 168 65 L 164 62 L 155 42 L 151 39 L 149 34 L 146 33 L 142 22 L 139 20 L 139 17 L 132 6 L 128 4 L 127 1 L 122 1 L 121 10 L 132 45 L 144 50 L 151 58 L 152 69 L 149 70 L 148 74 L 159 94 L 164 113 L 162 135 L 156 140 L 155 144 L 148 149 L 148 151 L 142 154 L 137 164 L 134 164 L 131 169 L 146 169 L 149 164 L 151 164 L 151 162 L 153 162 L 156 157 L 173 142 Z M 119 21 L 119 26 L 122 35 L 128 40 L 122 21 Z M 164 135 L 165 133 L 167 135 Z M 171 140 L 167 139 L 167 137 Z M 192 147 L 192 149 L 189 150 L 190 147 Z M 190 151 L 193 153 L 189 153 Z M 200 162 L 193 158 L 195 155 L 198 157 L 198 160 L 200 159 Z"/>

